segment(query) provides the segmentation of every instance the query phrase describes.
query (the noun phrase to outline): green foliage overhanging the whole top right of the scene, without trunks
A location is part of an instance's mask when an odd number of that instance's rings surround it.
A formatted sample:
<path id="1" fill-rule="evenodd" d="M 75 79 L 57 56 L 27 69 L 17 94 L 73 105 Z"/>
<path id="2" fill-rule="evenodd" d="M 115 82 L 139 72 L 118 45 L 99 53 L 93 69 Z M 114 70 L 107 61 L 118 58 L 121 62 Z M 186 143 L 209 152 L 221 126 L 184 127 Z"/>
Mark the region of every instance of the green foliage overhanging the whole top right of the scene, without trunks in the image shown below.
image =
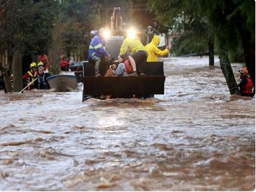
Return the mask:
<path id="1" fill-rule="evenodd" d="M 255 1 L 253 0 L 148 0 L 148 7 L 156 13 L 156 19 L 161 24 L 170 26 L 173 33 L 193 31 L 194 38 L 199 42 L 207 42 L 209 36 L 216 36 L 218 47 L 225 47 L 232 52 L 230 56 L 241 55 L 243 52 L 241 51 L 243 31 L 250 31 L 250 36 L 247 38 L 255 44 Z M 194 44 L 193 38 L 185 37 L 186 34 L 174 42 L 181 46 L 179 49 L 175 45 L 178 52 L 186 52 L 188 49 L 194 52 L 197 50 L 196 47 L 202 47 Z M 180 42 L 182 40 L 183 43 Z M 191 44 L 188 44 L 189 41 Z M 240 58 L 239 60 L 243 58 L 237 57 Z M 232 56 L 232 58 L 236 57 Z"/>

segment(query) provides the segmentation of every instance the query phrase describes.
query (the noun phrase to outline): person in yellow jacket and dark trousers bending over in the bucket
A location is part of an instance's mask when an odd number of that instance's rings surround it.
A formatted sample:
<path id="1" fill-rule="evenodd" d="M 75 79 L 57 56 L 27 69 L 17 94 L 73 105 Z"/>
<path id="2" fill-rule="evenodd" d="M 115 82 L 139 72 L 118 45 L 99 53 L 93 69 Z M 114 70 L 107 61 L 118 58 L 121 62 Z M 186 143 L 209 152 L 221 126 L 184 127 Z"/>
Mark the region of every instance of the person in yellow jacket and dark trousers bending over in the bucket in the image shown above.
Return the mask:
<path id="1" fill-rule="evenodd" d="M 129 76 L 143 76 L 143 65 L 147 62 L 148 53 L 138 37 L 127 36 L 125 38 L 120 48 L 120 54 L 126 54 L 127 51 L 131 52 L 128 59 L 133 70 Z"/>

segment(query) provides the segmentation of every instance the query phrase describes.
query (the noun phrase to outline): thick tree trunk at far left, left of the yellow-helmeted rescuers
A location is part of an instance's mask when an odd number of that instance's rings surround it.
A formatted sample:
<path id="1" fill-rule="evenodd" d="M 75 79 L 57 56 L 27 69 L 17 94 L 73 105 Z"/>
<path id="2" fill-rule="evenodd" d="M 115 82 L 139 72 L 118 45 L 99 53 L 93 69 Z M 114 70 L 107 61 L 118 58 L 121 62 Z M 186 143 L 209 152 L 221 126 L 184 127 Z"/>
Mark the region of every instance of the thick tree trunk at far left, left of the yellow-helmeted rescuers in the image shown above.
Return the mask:
<path id="1" fill-rule="evenodd" d="M 15 47 L 15 51 L 13 52 L 12 73 L 13 92 L 19 92 L 20 90 L 22 90 L 22 64 L 20 45 L 17 45 Z"/>

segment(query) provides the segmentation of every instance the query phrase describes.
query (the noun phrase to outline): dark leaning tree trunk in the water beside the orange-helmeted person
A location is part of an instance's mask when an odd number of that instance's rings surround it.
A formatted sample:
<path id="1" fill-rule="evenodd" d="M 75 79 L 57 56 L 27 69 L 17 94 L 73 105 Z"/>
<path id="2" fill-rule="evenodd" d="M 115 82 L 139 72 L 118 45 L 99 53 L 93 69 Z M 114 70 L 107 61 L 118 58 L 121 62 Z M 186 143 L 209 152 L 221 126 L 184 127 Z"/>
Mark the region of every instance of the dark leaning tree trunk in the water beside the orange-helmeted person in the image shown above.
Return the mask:
<path id="1" fill-rule="evenodd" d="M 228 89 L 231 95 L 240 95 L 239 89 L 234 77 L 230 61 L 228 60 L 228 52 L 222 51 L 220 53 L 220 67 L 223 72 L 223 75 L 227 81 Z"/>

